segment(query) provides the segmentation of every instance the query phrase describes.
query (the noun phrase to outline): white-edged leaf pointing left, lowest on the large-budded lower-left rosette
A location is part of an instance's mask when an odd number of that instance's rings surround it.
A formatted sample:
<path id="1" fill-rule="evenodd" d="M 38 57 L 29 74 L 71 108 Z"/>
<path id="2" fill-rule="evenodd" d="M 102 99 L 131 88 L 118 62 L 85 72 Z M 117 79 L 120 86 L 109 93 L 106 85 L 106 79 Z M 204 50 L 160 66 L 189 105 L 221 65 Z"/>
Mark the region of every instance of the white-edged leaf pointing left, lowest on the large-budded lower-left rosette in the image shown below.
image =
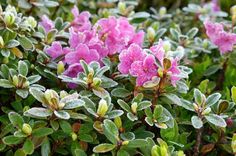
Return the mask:
<path id="1" fill-rule="evenodd" d="M 46 108 L 33 107 L 24 112 L 24 115 L 33 118 L 46 118 L 52 115 L 52 111 Z"/>

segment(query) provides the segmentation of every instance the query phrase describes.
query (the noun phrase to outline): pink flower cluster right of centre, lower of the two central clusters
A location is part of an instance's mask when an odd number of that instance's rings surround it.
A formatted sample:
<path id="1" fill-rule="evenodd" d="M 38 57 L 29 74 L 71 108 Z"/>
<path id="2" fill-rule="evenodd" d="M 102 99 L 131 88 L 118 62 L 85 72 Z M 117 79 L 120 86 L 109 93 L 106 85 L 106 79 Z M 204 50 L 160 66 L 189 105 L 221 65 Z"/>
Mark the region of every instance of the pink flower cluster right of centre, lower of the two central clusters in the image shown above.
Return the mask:
<path id="1" fill-rule="evenodd" d="M 132 44 L 119 55 L 118 70 L 122 74 L 130 74 L 136 77 L 137 86 L 142 86 L 154 76 L 161 77 L 158 71 L 163 71 L 167 73 L 171 84 L 175 86 L 176 82 L 180 80 L 179 74 L 181 73 L 178 68 L 178 58 L 167 58 L 162 41 L 158 45 L 152 46 L 150 50 L 152 53 L 147 53 L 137 44 Z M 164 69 L 165 58 L 171 61 L 171 66 L 168 69 Z M 160 62 L 159 66 L 157 60 Z"/>

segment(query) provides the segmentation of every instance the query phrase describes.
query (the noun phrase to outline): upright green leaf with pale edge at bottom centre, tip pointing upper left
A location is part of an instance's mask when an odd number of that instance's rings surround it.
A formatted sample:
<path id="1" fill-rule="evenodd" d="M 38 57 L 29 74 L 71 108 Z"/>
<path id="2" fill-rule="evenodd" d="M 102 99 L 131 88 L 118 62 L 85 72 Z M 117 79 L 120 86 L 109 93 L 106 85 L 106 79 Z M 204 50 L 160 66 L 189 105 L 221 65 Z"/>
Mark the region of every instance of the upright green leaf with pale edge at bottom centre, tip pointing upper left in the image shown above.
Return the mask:
<path id="1" fill-rule="evenodd" d="M 104 135 L 113 144 L 116 144 L 119 135 L 118 128 L 111 120 L 105 119 L 103 122 L 104 122 L 103 125 Z"/>

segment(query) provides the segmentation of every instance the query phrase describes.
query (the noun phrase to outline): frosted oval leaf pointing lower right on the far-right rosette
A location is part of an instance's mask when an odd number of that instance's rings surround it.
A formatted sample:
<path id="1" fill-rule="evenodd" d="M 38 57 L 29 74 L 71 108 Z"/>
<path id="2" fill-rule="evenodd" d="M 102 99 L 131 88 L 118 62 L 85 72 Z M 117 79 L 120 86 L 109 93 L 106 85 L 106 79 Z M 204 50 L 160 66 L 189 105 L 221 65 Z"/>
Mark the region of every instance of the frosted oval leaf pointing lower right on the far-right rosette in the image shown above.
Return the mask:
<path id="1" fill-rule="evenodd" d="M 225 120 L 221 116 L 216 115 L 216 114 L 205 115 L 205 118 L 208 122 L 218 127 L 226 127 L 227 125 Z"/>

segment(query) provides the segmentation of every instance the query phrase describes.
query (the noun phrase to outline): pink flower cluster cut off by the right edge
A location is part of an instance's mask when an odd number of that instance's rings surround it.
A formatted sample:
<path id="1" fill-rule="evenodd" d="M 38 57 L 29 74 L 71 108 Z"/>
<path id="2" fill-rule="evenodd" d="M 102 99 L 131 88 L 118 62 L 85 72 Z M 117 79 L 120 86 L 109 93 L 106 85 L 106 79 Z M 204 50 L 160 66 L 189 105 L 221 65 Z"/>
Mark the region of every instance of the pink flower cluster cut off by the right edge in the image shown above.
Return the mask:
<path id="1" fill-rule="evenodd" d="M 207 36 L 220 49 L 221 54 L 233 50 L 233 46 L 236 44 L 236 34 L 226 32 L 221 23 L 206 21 L 204 25 Z"/>

